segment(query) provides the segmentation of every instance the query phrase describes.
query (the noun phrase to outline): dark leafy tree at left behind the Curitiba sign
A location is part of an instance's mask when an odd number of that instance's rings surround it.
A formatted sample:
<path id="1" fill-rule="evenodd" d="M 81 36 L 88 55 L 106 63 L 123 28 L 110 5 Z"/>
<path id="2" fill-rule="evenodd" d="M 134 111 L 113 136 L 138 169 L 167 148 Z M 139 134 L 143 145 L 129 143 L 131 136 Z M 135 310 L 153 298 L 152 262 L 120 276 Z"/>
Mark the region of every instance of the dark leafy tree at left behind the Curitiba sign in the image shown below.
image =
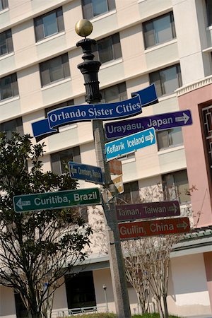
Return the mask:
<path id="1" fill-rule="evenodd" d="M 28 317 L 50 317 L 64 273 L 83 261 L 90 227 L 74 208 L 16 213 L 13 196 L 76 189 L 69 174 L 43 172 L 44 144 L 0 135 L 0 283 L 20 293 Z M 31 168 L 28 170 L 28 163 Z"/>

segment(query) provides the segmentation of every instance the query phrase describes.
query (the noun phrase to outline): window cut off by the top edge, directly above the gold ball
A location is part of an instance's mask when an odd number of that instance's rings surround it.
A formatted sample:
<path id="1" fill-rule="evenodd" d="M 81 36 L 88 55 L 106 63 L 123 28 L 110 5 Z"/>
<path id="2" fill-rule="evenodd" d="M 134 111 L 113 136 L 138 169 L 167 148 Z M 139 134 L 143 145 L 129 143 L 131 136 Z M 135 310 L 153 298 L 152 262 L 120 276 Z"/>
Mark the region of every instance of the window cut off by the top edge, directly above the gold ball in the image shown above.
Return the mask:
<path id="1" fill-rule="evenodd" d="M 115 8 L 114 0 L 82 0 L 83 17 L 92 19 Z"/>

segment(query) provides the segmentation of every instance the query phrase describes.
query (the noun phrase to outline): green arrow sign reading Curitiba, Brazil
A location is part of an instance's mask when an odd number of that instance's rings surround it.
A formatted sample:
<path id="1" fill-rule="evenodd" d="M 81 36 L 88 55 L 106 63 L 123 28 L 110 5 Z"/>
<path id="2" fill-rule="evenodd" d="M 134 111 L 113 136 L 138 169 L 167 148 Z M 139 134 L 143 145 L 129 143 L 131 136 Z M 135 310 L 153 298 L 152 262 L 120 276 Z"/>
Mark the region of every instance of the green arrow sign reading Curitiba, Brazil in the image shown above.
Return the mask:
<path id="1" fill-rule="evenodd" d="M 13 206 L 16 212 L 51 210 L 52 208 L 68 208 L 78 205 L 88 206 L 100 204 L 100 202 L 98 188 L 13 196 Z"/>

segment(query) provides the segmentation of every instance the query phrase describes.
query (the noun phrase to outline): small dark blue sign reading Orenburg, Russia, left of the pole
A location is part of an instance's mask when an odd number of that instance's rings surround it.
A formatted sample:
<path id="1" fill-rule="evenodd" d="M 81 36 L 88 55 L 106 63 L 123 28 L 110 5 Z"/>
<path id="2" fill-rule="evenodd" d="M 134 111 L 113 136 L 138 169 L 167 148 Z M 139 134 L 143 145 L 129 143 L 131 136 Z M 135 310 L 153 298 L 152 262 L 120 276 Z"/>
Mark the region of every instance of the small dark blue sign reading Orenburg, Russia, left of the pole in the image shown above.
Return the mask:
<path id="1" fill-rule="evenodd" d="M 83 165 L 69 161 L 69 171 L 72 179 L 86 180 L 89 182 L 103 184 L 102 169 L 94 165 Z"/>

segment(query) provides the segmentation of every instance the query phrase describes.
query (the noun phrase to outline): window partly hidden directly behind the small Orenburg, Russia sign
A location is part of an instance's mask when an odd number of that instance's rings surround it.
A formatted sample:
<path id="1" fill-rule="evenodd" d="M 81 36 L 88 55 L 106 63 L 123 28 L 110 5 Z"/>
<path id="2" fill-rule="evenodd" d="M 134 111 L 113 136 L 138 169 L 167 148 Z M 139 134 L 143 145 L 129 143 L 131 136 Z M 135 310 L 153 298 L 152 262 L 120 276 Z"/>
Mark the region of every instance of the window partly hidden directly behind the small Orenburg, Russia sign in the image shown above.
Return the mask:
<path id="1" fill-rule="evenodd" d="M 66 173 L 66 165 L 68 165 L 69 161 L 81 163 L 81 153 L 79 146 L 73 147 L 71 149 L 66 149 L 64 151 L 59 151 L 58 153 L 52 153 L 52 171 L 54 173 L 57 173 L 57 175 Z"/>

